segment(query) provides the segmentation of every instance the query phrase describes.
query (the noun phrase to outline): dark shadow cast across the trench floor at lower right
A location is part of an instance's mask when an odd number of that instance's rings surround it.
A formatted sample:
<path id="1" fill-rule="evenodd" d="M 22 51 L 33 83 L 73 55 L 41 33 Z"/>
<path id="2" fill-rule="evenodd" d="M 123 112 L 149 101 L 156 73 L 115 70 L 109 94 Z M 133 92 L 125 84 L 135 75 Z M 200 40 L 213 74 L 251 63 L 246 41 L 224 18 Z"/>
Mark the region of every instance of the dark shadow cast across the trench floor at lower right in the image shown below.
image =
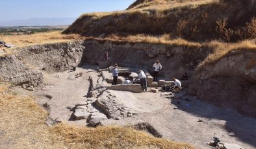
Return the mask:
<path id="1" fill-rule="evenodd" d="M 235 109 L 217 107 L 196 99 L 192 101 L 172 99 L 171 104 L 177 106 L 178 109 L 205 119 L 225 120 L 227 132 L 234 132 L 237 139 L 256 147 L 255 118 L 241 115 Z"/>

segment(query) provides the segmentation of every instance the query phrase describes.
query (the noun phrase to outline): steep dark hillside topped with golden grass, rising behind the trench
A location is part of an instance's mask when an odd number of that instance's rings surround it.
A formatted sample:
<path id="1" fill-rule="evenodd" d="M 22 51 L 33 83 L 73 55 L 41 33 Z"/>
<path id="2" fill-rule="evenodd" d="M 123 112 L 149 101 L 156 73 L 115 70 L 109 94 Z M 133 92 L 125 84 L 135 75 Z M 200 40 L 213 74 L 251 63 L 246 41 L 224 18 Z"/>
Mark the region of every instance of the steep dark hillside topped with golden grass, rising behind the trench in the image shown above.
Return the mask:
<path id="1" fill-rule="evenodd" d="M 255 36 L 254 1 L 136 1 L 121 12 L 83 14 L 65 34 L 170 34 L 192 41 L 239 41 Z M 253 29 L 251 29 L 253 28 Z"/>

